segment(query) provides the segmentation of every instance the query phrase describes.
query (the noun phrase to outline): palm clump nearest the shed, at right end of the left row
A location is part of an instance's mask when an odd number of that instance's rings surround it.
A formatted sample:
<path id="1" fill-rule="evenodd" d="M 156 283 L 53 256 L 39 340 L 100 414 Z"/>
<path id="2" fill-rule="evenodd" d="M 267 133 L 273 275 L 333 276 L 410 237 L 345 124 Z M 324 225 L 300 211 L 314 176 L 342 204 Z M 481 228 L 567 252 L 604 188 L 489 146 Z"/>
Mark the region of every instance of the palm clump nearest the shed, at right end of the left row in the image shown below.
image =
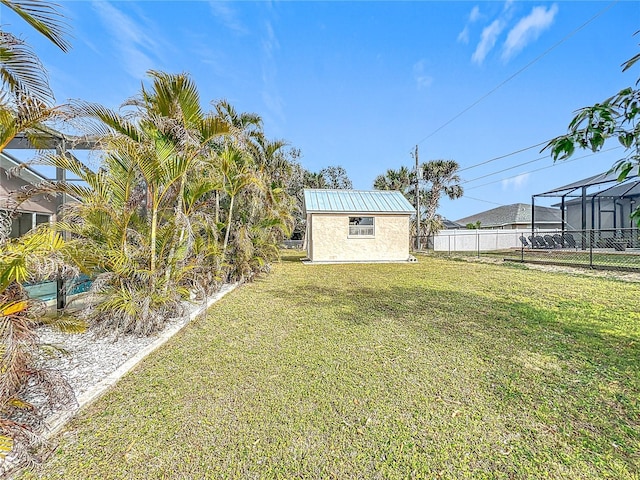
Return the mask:
<path id="1" fill-rule="evenodd" d="M 223 258 L 232 277 L 248 279 L 274 252 L 277 257 L 279 242 L 291 234 L 295 199 L 284 187 L 294 170 L 289 159 L 297 153 L 285 151 L 284 140 L 268 139 L 259 115 L 238 113 L 225 100 L 214 105 L 232 133 L 218 151 L 223 188 L 216 212 L 220 201 L 227 206 Z"/>

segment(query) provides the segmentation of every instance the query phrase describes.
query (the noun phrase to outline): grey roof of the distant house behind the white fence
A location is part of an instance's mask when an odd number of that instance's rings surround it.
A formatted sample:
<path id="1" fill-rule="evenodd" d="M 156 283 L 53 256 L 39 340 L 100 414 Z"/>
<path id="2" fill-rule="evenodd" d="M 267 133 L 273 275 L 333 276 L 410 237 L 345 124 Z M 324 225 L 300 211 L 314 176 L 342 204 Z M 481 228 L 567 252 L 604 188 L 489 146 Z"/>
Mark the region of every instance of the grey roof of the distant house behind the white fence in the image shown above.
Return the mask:
<path id="1" fill-rule="evenodd" d="M 562 212 L 558 208 L 539 207 L 535 210 L 536 223 L 562 223 Z M 502 227 L 506 225 L 531 224 L 531 205 L 514 203 L 502 207 L 492 208 L 485 212 L 456 220 L 457 223 L 467 225 L 480 221 L 480 227 Z"/>

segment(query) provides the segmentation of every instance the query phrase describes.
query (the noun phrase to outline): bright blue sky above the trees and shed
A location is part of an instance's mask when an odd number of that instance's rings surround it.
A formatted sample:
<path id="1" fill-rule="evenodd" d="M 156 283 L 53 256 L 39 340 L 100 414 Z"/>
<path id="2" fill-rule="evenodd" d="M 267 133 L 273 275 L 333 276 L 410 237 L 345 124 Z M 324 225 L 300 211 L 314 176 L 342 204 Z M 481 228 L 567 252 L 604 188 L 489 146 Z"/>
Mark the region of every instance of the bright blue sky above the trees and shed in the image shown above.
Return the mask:
<path id="1" fill-rule="evenodd" d="M 537 147 L 469 167 L 564 133 L 576 109 L 640 77 L 620 68 L 640 50 L 637 1 L 59 3 L 67 54 L 0 7 L 58 102 L 117 107 L 149 69 L 188 72 L 204 106 L 260 114 L 305 168 L 341 165 L 355 188 L 413 165 L 416 144 L 421 161 L 456 160 L 465 196 L 440 209 L 452 220 L 607 170 L 621 149 L 552 166 Z"/>

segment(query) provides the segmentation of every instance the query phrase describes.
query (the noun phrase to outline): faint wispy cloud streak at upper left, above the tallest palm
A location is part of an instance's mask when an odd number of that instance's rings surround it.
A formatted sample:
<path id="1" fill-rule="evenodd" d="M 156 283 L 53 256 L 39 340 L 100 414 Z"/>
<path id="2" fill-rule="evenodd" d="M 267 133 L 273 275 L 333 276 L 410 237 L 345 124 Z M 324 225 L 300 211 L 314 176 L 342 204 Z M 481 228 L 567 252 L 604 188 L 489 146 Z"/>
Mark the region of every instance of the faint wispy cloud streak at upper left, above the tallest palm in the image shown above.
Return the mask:
<path id="1" fill-rule="evenodd" d="M 144 78 L 147 70 L 155 66 L 150 54 L 161 50 L 155 36 L 145 32 L 142 25 L 109 2 L 93 2 L 93 8 L 113 37 L 116 49 L 122 54 L 124 69 L 134 78 Z"/>

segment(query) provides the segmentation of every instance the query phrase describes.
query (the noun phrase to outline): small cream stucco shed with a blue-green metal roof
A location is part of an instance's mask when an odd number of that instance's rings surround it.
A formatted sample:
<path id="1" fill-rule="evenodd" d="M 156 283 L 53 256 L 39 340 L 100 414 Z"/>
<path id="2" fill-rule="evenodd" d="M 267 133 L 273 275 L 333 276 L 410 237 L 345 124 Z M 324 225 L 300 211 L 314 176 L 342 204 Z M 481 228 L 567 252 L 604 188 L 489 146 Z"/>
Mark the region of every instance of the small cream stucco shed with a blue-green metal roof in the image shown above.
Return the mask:
<path id="1" fill-rule="evenodd" d="M 390 190 L 304 190 L 309 261 L 408 262 L 415 209 Z"/>

